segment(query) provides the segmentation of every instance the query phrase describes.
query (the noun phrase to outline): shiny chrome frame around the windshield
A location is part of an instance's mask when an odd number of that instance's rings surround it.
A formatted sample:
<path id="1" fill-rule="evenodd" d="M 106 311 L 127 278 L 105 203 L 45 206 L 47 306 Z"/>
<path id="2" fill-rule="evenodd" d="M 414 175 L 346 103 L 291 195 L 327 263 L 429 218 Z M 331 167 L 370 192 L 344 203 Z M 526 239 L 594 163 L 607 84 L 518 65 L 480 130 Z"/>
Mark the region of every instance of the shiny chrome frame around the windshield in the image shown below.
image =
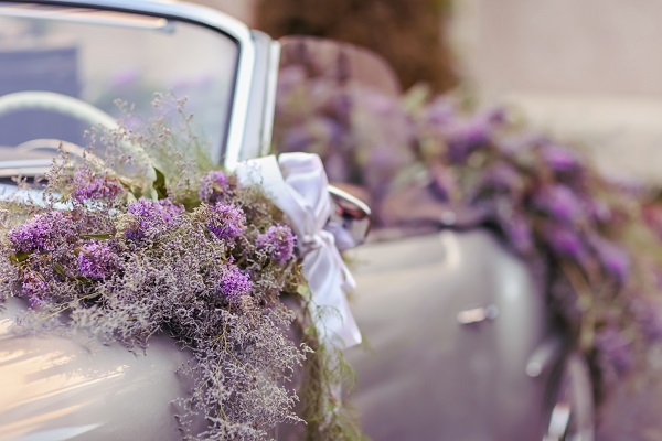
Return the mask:
<path id="1" fill-rule="evenodd" d="M 244 140 L 250 87 L 255 66 L 255 45 L 250 31 L 241 21 L 226 15 L 212 8 L 174 1 L 157 0 L 38 0 L 38 1 L 7 1 L 0 3 L 41 3 L 63 7 L 94 8 L 109 11 L 150 14 L 163 18 L 180 19 L 224 33 L 237 41 L 239 45 L 239 60 L 235 78 L 235 92 L 232 114 L 227 122 L 225 157 L 223 165 L 233 169 L 239 161 Z M 217 160 L 218 158 L 213 158 Z"/>

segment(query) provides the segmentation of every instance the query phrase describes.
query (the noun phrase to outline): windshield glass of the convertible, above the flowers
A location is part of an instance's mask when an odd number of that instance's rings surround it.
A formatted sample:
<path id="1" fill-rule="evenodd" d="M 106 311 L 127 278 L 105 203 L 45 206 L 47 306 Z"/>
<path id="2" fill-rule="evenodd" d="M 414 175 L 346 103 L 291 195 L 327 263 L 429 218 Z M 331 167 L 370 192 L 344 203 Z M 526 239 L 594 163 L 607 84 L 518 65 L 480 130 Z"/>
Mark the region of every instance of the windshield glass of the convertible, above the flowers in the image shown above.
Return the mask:
<path id="1" fill-rule="evenodd" d="M 35 139 L 84 146 L 103 114 L 122 117 L 118 100 L 149 118 L 154 93 L 186 98 L 193 130 L 218 162 L 237 58 L 233 39 L 183 21 L 0 3 L 0 169 L 46 161 Z"/>

